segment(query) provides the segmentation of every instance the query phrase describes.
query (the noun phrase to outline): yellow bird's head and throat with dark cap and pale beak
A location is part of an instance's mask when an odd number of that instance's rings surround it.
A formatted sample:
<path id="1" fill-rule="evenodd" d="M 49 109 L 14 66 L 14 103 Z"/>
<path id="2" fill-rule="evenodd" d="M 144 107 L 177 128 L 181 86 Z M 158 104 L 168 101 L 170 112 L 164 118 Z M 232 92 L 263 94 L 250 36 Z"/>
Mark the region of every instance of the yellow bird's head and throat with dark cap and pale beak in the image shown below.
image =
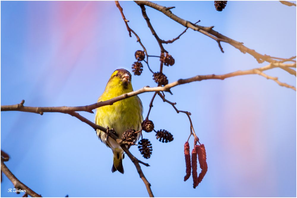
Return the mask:
<path id="1" fill-rule="evenodd" d="M 106 88 L 123 88 L 127 91 L 132 91 L 131 74 L 126 69 L 117 69 L 112 73 Z"/>

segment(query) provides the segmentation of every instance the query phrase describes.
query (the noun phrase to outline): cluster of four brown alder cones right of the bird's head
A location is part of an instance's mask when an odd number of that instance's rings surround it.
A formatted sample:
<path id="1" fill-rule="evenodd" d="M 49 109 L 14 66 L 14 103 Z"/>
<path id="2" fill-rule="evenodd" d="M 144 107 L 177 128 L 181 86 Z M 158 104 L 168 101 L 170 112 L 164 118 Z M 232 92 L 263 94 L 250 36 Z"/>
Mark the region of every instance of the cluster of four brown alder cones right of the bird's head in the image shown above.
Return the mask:
<path id="1" fill-rule="evenodd" d="M 143 71 L 143 64 L 141 63 L 141 61 L 144 61 L 146 55 L 144 51 L 137 50 L 134 56 L 137 61 L 132 64 L 132 72 L 134 73 L 134 75 L 140 76 Z M 170 54 L 162 53 L 160 56 L 160 62 L 162 62 L 166 66 L 173 66 L 175 60 Z M 153 74 L 153 80 L 158 84 L 158 86 L 165 86 L 168 84 L 168 79 L 162 72 L 155 72 Z"/>

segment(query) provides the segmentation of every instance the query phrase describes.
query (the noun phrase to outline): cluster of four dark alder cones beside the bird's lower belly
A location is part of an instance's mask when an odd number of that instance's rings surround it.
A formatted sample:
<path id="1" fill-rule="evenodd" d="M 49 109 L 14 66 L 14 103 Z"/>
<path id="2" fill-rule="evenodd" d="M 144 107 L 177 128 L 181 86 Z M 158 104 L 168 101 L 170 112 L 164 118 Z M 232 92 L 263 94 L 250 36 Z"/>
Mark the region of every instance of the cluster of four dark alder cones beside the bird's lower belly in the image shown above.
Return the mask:
<path id="1" fill-rule="evenodd" d="M 158 131 L 154 130 L 154 123 L 151 120 L 144 120 L 141 123 L 141 127 L 142 130 L 145 132 L 156 132 L 156 139 L 159 140 L 160 142 L 171 142 L 173 141 L 173 135 L 166 131 L 165 129 L 160 129 Z M 126 142 L 134 142 L 136 140 L 137 137 L 137 132 L 134 129 L 128 129 L 126 130 L 123 135 L 122 135 L 122 140 L 126 141 Z M 141 155 L 145 158 L 145 159 L 149 159 L 151 157 L 153 148 L 151 145 L 151 142 L 148 139 L 141 139 L 138 142 L 138 150 L 140 151 Z"/>

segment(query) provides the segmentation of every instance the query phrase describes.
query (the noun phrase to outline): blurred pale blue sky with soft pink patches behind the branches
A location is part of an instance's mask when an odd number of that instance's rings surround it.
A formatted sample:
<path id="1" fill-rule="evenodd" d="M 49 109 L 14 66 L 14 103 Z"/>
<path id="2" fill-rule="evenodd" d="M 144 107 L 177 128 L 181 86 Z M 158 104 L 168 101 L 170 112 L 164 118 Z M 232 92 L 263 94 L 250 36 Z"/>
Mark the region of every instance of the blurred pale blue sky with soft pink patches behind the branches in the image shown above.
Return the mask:
<path id="1" fill-rule="evenodd" d="M 296 7 L 279 1 L 228 1 L 222 12 L 213 1 L 156 1 L 181 18 L 214 30 L 261 54 L 296 55 Z M 159 47 L 132 1 L 120 2 L 129 26 L 150 55 Z M 147 14 L 160 38 L 167 40 L 184 27 L 149 7 Z M 169 82 L 194 75 L 224 74 L 265 66 L 249 54 L 188 30 L 164 45 L 175 58 L 165 67 Z M 1 105 L 80 106 L 92 104 L 118 68 L 131 72 L 134 52 L 113 1 L 1 1 Z M 150 66 L 158 70 L 158 58 Z M 296 86 L 296 77 L 280 69 L 266 72 Z M 134 90 L 156 86 L 144 66 L 132 77 Z M 156 97 L 150 119 L 174 141 L 162 144 L 153 133 L 153 154 L 143 172 L 157 197 L 296 197 L 296 92 L 258 75 L 206 80 L 181 85 L 167 99 L 192 113 L 195 132 L 206 147 L 208 172 L 198 188 L 185 175 L 183 145 L 189 135 L 187 116 Z M 146 115 L 153 93 L 139 95 Z M 81 115 L 94 120 L 94 114 Z M 192 139 L 190 139 L 192 142 Z M 191 144 L 190 144 L 191 145 Z M 145 186 L 132 162 L 123 161 L 125 174 L 112 173 L 112 153 L 95 131 L 61 113 L 38 115 L 1 112 L 1 149 L 6 162 L 23 183 L 44 197 L 146 197 Z M 3 177 L 1 197 L 15 197 Z"/>

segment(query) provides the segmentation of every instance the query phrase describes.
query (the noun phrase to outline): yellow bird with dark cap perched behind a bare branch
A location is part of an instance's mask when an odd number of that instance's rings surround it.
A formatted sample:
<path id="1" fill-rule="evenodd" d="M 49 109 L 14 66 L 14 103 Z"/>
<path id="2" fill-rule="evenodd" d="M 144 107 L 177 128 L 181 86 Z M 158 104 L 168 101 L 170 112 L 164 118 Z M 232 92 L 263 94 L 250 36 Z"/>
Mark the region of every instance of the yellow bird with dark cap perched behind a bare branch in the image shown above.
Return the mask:
<path id="1" fill-rule="evenodd" d="M 97 102 L 112 99 L 121 94 L 133 91 L 131 83 L 131 73 L 126 69 L 116 69 L 108 83 L 106 84 L 103 94 L 98 98 Z M 143 106 L 138 96 L 132 96 L 127 99 L 120 100 L 112 105 L 98 107 L 96 109 L 95 123 L 105 128 L 109 127 L 116 132 L 119 138 L 128 129 L 139 131 L 143 121 Z M 113 166 L 111 172 L 119 171 L 124 174 L 122 159 L 124 159 L 124 151 L 120 145 L 112 138 L 106 139 L 106 133 L 97 129 L 98 138 L 113 152 Z M 138 141 L 140 133 L 137 134 Z"/>

